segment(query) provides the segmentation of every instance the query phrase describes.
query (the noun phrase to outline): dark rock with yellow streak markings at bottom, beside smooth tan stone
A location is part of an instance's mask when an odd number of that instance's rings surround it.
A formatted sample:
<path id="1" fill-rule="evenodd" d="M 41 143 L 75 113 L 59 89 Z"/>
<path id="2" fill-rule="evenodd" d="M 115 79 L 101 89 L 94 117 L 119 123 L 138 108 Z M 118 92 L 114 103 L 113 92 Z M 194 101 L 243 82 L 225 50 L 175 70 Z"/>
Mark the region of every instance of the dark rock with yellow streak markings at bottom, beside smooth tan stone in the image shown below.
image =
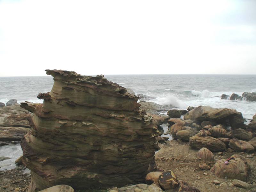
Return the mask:
<path id="1" fill-rule="evenodd" d="M 179 181 L 172 171 L 163 172 L 159 176 L 158 182 L 165 190 L 179 187 Z"/>

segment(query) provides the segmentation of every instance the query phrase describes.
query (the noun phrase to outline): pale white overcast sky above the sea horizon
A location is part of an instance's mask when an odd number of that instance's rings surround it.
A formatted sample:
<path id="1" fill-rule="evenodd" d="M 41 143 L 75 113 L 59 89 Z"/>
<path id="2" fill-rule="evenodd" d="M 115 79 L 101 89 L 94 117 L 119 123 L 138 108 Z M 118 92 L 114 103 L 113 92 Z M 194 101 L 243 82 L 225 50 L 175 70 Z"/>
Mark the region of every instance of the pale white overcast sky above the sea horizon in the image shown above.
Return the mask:
<path id="1" fill-rule="evenodd" d="M 256 74 L 256 0 L 0 0 L 0 76 Z"/>

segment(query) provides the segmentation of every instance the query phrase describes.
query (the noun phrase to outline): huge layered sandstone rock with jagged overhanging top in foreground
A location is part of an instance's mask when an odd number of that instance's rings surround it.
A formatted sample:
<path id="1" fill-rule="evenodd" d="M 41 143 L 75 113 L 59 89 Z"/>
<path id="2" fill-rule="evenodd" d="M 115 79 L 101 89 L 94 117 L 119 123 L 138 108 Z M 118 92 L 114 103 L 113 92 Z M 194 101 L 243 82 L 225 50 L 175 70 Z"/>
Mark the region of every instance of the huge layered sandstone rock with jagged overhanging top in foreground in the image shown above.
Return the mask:
<path id="1" fill-rule="evenodd" d="M 51 92 L 44 104 L 22 103 L 34 113 L 33 129 L 21 142 L 31 170 L 25 191 L 66 184 L 74 189 L 144 181 L 157 147 L 152 117 L 138 97 L 104 76 L 46 70 Z"/>

